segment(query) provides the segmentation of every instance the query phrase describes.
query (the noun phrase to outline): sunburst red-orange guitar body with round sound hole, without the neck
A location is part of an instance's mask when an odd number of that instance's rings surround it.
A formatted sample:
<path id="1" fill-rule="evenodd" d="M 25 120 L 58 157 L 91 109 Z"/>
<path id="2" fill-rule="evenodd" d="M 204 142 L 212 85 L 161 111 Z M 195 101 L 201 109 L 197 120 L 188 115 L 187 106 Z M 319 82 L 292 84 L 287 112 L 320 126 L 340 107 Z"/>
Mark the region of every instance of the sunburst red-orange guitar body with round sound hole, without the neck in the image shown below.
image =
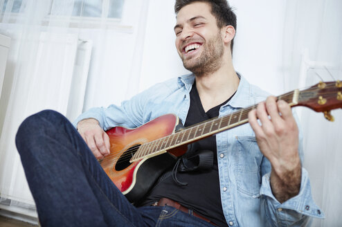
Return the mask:
<path id="1" fill-rule="evenodd" d="M 186 152 L 186 147 L 143 158 L 134 163 L 129 163 L 129 159 L 132 158 L 139 145 L 174 133 L 178 124 L 177 116 L 167 114 L 136 129 L 114 127 L 106 131 L 111 153 L 100 161 L 100 165 L 129 201 L 141 199 L 152 188 L 159 176 L 168 167 L 174 165 L 176 157 Z"/>

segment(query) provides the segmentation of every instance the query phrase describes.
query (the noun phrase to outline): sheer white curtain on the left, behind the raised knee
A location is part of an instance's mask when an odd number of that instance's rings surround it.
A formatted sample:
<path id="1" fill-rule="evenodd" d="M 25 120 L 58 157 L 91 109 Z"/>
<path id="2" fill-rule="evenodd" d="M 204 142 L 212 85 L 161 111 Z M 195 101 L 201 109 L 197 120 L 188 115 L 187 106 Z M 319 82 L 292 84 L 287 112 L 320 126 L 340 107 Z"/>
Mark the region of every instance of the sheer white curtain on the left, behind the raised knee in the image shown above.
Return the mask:
<path id="1" fill-rule="evenodd" d="M 0 97 L 0 209 L 37 216 L 15 148 L 24 118 L 54 109 L 74 120 L 95 106 L 96 92 L 111 96 L 109 78 L 125 94 L 121 100 L 131 96 L 126 88 L 133 70 L 123 69 L 141 62 L 137 26 L 145 26 L 146 6 L 141 0 L 0 0 L 0 33 L 11 38 Z M 125 63 L 116 61 L 118 51 L 126 51 Z"/>

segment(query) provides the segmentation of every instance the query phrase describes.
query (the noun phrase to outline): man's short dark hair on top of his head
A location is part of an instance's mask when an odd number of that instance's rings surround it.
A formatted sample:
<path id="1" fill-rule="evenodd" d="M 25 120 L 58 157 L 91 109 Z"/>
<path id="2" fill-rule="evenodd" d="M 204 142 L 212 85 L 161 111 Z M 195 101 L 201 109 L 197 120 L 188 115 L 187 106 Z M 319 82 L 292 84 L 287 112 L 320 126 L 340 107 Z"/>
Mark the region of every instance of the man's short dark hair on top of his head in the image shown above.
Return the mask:
<path id="1" fill-rule="evenodd" d="M 231 25 L 236 30 L 236 15 L 226 0 L 176 0 L 174 4 L 174 12 L 177 14 L 181 8 L 193 2 L 206 2 L 211 6 L 211 13 L 216 18 L 217 27 Z M 231 41 L 231 51 L 233 53 L 233 41 Z"/>

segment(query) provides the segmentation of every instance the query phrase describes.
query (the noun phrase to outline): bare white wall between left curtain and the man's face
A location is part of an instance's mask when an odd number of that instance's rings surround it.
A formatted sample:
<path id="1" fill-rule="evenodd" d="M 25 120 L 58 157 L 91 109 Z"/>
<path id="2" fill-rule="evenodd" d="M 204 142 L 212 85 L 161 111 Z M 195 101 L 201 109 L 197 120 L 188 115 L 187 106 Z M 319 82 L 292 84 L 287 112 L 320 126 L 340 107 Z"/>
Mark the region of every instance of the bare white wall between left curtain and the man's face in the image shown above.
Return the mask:
<path id="1" fill-rule="evenodd" d="M 175 24 L 174 1 L 150 0 L 139 91 L 188 72 L 174 44 Z"/>

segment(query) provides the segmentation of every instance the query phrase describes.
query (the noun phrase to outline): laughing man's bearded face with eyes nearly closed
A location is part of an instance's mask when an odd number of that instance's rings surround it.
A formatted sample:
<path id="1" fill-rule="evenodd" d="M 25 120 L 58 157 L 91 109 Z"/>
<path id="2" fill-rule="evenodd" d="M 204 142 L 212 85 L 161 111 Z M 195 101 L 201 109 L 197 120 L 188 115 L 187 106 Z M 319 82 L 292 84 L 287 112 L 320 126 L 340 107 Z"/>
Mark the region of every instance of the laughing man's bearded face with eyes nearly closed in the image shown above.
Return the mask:
<path id="1" fill-rule="evenodd" d="M 174 26 L 179 56 L 195 75 L 219 69 L 224 55 L 221 29 L 210 10 L 208 3 L 190 3 L 179 10 Z"/>

